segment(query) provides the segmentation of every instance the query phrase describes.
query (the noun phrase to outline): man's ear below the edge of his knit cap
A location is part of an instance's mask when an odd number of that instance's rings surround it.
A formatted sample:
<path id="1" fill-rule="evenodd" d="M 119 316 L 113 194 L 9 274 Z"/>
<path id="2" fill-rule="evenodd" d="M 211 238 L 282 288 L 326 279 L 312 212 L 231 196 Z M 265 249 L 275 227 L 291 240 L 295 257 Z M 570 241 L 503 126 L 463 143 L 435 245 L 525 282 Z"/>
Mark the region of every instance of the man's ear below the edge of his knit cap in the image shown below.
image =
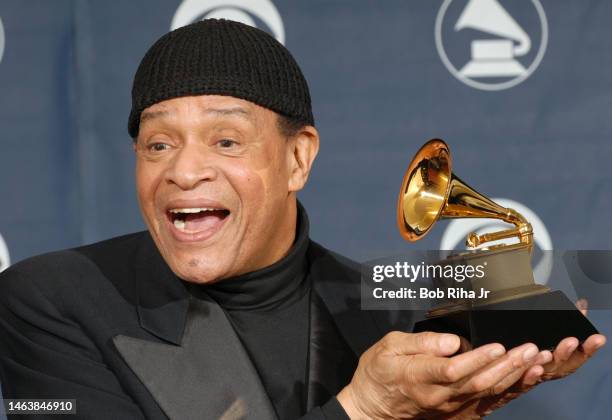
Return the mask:
<path id="1" fill-rule="evenodd" d="M 289 140 L 289 192 L 304 188 L 310 169 L 319 152 L 319 132 L 311 125 L 304 126 Z"/>

